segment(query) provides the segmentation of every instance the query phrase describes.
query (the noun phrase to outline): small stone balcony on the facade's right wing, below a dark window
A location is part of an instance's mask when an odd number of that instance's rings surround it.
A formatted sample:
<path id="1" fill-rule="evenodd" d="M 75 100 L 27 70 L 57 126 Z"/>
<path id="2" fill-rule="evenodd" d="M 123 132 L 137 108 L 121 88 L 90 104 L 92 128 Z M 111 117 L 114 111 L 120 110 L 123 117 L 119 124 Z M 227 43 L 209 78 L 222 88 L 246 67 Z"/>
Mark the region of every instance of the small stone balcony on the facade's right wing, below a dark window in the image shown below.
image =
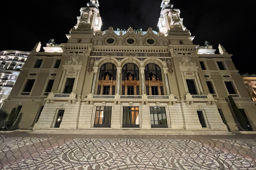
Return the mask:
<path id="1" fill-rule="evenodd" d="M 195 102 L 214 104 L 215 103 L 215 99 L 213 98 L 212 94 L 208 94 L 208 95 L 191 95 L 191 94 L 186 94 L 185 95 L 185 102 L 186 102 L 186 104 L 193 104 Z"/>

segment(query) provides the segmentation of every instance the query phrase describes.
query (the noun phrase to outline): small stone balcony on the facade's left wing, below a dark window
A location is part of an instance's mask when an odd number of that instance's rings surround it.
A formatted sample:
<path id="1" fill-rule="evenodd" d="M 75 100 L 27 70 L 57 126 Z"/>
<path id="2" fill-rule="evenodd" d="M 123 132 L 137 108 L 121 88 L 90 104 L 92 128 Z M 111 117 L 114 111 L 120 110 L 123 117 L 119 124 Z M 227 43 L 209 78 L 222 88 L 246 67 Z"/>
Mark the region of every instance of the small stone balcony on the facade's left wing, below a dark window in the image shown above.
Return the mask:
<path id="1" fill-rule="evenodd" d="M 68 101 L 70 104 L 76 103 L 77 95 L 75 92 L 71 92 L 71 94 L 54 94 L 50 92 L 50 94 L 45 99 L 46 103 L 54 104 L 54 101 Z"/>

